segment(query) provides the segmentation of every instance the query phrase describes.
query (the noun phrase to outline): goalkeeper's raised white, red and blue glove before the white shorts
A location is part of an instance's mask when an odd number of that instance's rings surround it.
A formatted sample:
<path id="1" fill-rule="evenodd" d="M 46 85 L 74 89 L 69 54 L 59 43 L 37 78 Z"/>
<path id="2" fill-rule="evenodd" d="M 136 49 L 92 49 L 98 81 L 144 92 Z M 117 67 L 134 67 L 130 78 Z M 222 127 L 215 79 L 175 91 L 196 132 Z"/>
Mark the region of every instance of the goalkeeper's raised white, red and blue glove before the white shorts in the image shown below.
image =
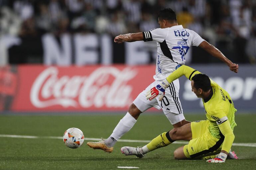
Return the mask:
<path id="1" fill-rule="evenodd" d="M 153 87 L 147 92 L 147 99 L 151 101 L 155 99 L 158 95 L 160 95 L 159 101 L 161 101 L 165 95 L 165 89 L 169 87 L 169 84 L 170 83 L 166 79 L 163 80 L 160 84 L 158 84 L 156 87 Z"/>

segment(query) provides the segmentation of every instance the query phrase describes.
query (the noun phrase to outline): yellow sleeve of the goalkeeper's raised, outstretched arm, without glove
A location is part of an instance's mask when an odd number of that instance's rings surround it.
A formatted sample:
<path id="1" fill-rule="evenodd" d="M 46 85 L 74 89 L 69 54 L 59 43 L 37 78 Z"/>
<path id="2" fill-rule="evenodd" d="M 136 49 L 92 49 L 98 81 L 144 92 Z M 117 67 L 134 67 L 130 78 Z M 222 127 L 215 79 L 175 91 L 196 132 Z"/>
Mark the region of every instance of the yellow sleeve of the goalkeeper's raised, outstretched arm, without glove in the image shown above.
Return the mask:
<path id="1" fill-rule="evenodd" d="M 189 80 L 191 80 L 195 74 L 199 74 L 199 73 L 200 73 L 199 71 L 189 66 L 182 65 L 177 70 L 172 72 L 166 79 L 169 83 L 171 83 L 174 80 L 178 79 L 179 77 L 185 75 Z"/>

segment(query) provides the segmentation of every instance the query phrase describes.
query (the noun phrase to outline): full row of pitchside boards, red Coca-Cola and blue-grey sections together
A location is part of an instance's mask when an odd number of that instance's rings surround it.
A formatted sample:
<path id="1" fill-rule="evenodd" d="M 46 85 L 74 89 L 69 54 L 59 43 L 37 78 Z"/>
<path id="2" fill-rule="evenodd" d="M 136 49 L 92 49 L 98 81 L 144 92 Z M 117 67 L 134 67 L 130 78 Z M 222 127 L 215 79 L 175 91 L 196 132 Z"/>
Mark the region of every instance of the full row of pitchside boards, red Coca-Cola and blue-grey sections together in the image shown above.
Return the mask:
<path id="1" fill-rule="evenodd" d="M 192 67 L 223 87 L 238 111 L 255 110 L 255 66 L 240 65 L 238 74 L 226 66 Z M 0 67 L 0 112 L 127 111 L 154 81 L 154 74 L 155 65 L 4 66 Z M 201 99 L 191 91 L 190 80 L 183 76 L 179 81 L 183 111 L 203 110 Z"/>

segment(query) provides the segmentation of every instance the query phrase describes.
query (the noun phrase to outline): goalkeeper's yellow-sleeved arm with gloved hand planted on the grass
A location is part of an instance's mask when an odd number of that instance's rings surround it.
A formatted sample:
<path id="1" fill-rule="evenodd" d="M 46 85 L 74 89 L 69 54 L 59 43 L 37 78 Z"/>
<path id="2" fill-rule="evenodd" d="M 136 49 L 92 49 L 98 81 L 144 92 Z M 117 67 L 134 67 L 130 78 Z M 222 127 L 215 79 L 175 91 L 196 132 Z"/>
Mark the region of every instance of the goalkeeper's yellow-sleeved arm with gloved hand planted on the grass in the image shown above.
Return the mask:
<path id="1" fill-rule="evenodd" d="M 230 127 L 230 123 L 226 116 L 216 121 L 216 123 L 220 129 L 220 132 L 224 135 L 224 141 L 223 141 L 219 156 L 214 159 L 209 159 L 207 160 L 207 162 L 222 163 L 222 162 L 225 162 L 227 158 L 228 152 L 235 139 L 235 135 L 233 133 L 233 130 Z"/>

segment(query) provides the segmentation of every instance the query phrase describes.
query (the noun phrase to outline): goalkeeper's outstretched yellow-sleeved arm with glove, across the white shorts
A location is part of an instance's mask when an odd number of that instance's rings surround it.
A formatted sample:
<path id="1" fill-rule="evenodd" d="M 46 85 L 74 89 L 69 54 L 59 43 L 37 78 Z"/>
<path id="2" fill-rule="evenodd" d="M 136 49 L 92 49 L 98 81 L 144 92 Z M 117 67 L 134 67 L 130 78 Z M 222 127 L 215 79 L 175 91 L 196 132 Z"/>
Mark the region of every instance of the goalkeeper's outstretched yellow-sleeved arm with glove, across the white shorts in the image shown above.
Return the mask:
<path id="1" fill-rule="evenodd" d="M 169 84 L 171 82 L 173 82 L 174 80 L 178 79 L 179 77 L 185 75 L 189 80 L 192 79 L 192 77 L 195 74 L 199 74 L 200 72 L 189 67 L 186 65 L 182 65 L 181 67 L 179 67 L 177 70 L 175 70 L 174 72 L 172 72 L 165 80 L 163 80 L 160 84 L 158 84 L 156 87 L 153 87 L 152 89 L 150 89 L 150 91 L 147 92 L 146 94 L 146 98 L 149 100 L 153 100 L 154 98 L 156 98 L 158 95 L 160 95 L 159 97 L 159 101 L 161 101 L 164 97 L 165 94 L 165 89 L 167 87 L 169 87 Z"/>

